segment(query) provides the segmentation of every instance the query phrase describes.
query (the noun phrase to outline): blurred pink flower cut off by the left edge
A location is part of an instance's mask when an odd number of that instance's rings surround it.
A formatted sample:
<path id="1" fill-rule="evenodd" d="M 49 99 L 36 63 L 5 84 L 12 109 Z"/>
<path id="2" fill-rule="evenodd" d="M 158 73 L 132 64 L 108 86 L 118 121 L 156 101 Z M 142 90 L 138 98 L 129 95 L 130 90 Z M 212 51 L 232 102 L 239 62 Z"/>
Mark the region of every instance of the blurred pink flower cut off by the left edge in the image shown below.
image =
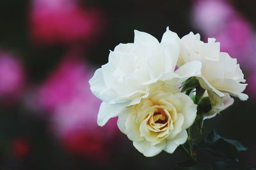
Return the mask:
<path id="1" fill-rule="evenodd" d="M 12 103 L 20 98 L 25 83 L 24 67 L 12 53 L 0 51 L 0 101 Z"/>

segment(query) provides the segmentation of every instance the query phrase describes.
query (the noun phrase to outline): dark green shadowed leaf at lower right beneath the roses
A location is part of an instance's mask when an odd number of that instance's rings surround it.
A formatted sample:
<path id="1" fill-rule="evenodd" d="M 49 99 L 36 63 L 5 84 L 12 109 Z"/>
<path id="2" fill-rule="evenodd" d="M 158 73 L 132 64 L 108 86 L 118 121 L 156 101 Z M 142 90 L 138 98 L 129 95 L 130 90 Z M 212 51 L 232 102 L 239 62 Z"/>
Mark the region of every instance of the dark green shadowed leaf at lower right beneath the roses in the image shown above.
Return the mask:
<path id="1" fill-rule="evenodd" d="M 214 130 L 204 139 L 204 147 L 213 155 L 226 155 L 236 157 L 238 152 L 247 150 L 236 140 L 226 139 L 217 134 Z"/>

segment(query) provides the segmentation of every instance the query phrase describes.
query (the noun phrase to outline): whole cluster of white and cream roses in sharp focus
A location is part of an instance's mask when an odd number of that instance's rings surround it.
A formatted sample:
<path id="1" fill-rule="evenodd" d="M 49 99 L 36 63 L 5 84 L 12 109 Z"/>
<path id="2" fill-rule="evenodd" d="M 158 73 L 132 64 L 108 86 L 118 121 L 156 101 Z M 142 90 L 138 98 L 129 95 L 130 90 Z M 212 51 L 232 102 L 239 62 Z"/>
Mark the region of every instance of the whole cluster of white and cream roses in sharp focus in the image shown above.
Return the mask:
<path id="1" fill-rule="evenodd" d="M 220 52 L 214 38 L 204 43 L 190 32 L 180 39 L 168 28 L 161 42 L 134 34 L 134 43 L 110 51 L 89 83 L 102 100 L 98 124 L 118 117 L 118 128 L 143 155 L 173 153 L 186 143 L 197 115 L 214 117 L 234 103 L 230 96 L 248 99 L 237 60 Z"/>

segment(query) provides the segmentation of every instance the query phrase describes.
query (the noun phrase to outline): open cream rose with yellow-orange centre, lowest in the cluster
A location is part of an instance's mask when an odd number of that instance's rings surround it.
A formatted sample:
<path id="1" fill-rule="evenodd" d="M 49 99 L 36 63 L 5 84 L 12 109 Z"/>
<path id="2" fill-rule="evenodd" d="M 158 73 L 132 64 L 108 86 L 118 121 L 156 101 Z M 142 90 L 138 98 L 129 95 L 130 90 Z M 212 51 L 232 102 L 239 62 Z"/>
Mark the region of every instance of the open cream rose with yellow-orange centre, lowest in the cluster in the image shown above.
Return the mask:
<path id="1" fill-rule="evenodd" d="M 158 91 L 126 108 L 118 116 L 118 127 L 139 152 L 153 157 L 184 144 L 195 118 L 196 104 L 186 94 Z"/>

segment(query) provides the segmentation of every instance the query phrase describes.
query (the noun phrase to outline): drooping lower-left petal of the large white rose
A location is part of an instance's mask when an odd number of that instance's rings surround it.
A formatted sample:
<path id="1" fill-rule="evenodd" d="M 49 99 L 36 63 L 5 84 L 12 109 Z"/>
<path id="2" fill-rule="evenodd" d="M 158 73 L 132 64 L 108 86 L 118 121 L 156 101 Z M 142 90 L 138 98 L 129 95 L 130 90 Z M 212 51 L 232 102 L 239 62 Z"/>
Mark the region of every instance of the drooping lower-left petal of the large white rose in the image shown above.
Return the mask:
<path id="1" fill-rule="evenodd" d="M 102 102 L 98 114 L 98 125 L 103 126 L 110 118 L 117 117 L 125 109 L 125 106 L 127 106 L 127 103 L 108 104 Z"/>

